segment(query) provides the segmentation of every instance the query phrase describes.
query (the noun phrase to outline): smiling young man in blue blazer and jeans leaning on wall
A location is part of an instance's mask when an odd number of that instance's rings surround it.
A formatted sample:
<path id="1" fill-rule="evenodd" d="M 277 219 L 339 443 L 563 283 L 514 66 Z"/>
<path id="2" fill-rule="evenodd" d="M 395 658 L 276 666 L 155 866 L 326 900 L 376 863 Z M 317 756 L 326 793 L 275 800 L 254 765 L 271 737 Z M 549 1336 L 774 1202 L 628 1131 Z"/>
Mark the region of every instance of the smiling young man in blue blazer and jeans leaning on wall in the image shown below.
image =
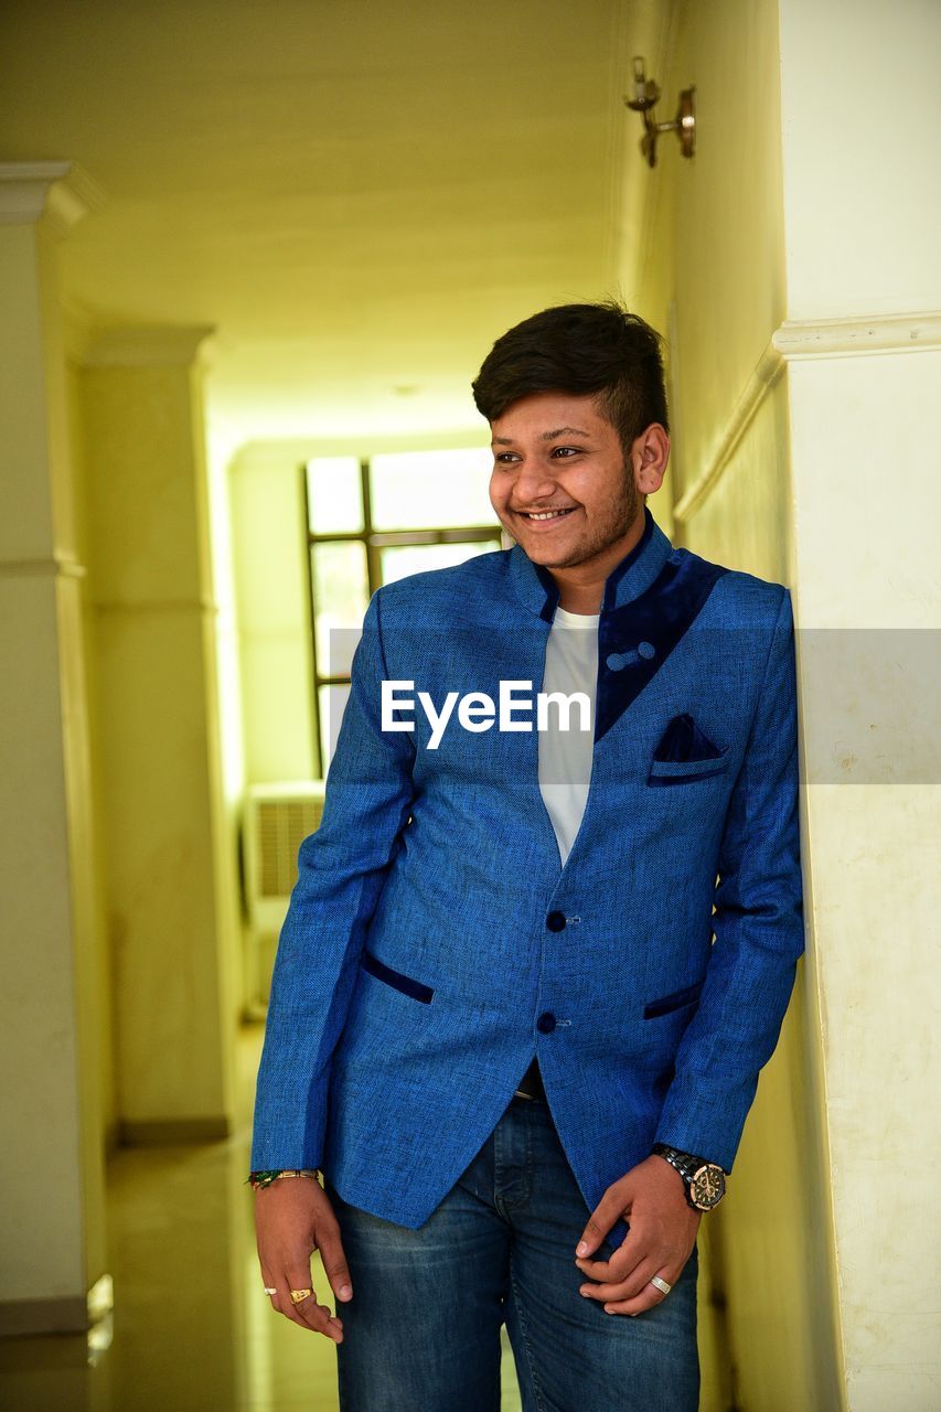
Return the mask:
<path id="1" fill-rule="evenodd" d="M 526 1408 L 691 1412 L 697 1231 L 803 950 L 790 596 L 654 524 L 643 321 L 547 309 L 475 398 L 516 545 L 369 604 L 274 969 L 261 1271 L 352 1412 L 495 1412 L 502 1322 Z"/>

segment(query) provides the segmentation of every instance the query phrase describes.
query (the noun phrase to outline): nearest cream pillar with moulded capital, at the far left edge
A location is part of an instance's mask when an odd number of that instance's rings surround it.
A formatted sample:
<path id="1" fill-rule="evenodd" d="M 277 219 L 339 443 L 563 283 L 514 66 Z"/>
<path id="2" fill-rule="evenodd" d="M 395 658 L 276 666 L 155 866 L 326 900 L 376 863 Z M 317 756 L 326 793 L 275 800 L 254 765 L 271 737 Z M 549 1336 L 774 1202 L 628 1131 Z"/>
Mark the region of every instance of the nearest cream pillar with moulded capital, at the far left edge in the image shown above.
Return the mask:
<path id="1" fill-rule="evenodd" d="M 107 1017 L 57 237 L 68 162 L 0 165 L 0 1333 L 79 1330 L 107 1291 Z"/>

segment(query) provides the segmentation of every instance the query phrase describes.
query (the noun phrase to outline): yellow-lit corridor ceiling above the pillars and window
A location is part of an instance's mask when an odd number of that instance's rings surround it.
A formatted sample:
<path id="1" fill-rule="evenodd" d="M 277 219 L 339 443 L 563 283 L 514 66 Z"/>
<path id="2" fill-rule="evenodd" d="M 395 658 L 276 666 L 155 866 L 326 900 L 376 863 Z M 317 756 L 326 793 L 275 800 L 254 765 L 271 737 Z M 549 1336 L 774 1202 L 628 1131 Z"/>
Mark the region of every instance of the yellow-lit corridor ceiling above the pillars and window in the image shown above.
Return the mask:
<path id="1" fill-rule="evenodd" d="M 625 11 L 6 0 L 0 160 L 103 189 L 68 298 L 213 325 L 230 439 L 454 431 L 503 329 L 613 287 Z"/>

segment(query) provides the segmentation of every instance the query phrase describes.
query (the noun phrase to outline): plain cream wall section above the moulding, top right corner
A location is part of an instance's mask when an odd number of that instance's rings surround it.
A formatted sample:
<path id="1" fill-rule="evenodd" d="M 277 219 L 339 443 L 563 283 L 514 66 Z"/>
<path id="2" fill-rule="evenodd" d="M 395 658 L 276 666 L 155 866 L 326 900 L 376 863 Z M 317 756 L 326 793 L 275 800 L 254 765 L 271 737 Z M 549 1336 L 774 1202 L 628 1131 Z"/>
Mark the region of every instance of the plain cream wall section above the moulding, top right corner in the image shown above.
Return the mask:
<path id="1" fill-rule="evenodd" d="M 781 0 L 790 319 L 937 309 L 937 0 Z"/>

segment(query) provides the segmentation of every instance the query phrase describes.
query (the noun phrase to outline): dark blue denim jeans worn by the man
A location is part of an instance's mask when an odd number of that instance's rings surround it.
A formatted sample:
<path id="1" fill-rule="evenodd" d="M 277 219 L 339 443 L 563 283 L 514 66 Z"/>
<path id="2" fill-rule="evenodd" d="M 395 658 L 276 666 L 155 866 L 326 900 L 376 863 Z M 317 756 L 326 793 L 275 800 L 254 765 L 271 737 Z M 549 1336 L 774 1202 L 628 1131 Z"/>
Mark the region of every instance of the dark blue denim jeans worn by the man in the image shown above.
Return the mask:
<path id="1" fill-rule="evenodd" d="M 511 1099 L 418 1230 L 325 1189 L 353 1282 L 341 1412 L 499 1412 L 504 1320 L 524 1412 L 695 1412 L 697 1251 L 634 1319 L 579 1295 L 589 1207 L 544 1100 Z"/>

